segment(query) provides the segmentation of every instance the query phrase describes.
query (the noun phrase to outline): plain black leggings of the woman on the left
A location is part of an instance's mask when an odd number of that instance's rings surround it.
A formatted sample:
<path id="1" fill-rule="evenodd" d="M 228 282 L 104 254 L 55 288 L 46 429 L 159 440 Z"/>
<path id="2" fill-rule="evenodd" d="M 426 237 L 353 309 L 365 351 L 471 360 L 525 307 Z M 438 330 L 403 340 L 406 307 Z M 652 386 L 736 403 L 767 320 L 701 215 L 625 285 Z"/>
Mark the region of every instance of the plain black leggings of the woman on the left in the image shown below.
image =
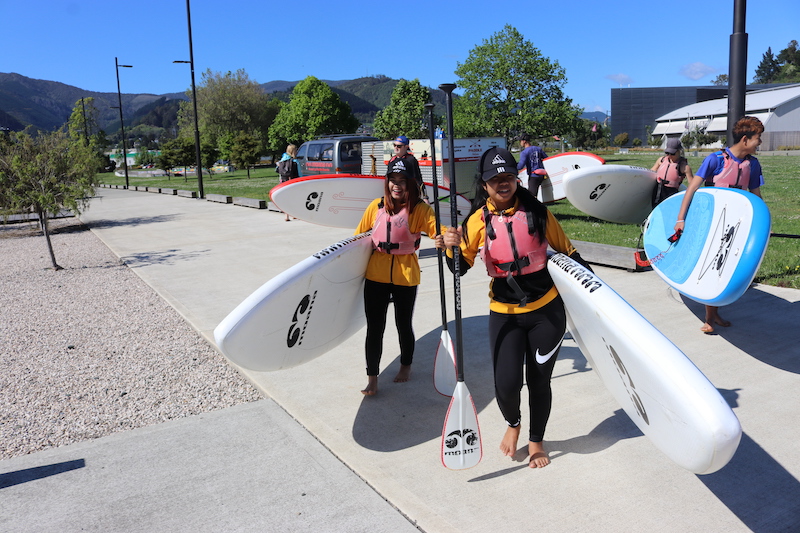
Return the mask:
<path id="1" fill-rule="evenodd" d="M 364 284 L 364 313 L 367 315 L 367 375 L 380 372 L 383 353 L 383 332 L 386 330 L 386 313 L 389 298 L 394 302 L 394 322 L 400 337 L 400 364 L 410 365 L 414 359 L 414 302 L 417 286 L 405 287 L 392 283 L 366 280 Z"/>

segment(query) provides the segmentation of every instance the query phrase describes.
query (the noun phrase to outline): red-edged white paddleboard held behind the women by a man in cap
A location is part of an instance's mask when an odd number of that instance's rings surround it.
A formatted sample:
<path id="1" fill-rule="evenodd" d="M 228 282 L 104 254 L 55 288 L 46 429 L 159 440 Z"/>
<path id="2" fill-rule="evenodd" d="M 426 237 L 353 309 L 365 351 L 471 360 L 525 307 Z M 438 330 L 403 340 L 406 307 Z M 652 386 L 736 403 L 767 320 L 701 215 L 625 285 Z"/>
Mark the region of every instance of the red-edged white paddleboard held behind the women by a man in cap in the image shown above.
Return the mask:
<path id="1" fill-rule="evenodd" d="M 309 176 L 286 181 L 270 191 L 272 202 L 278 209 L 300 220 L 353 229 L 361 222 L 367 206 L 383 196 L 384 179 L 381 176 L 356 174 L 330 174 Z M 433 198 L 433 185 L 425 184 L 428 196 Z M 439 187 L 439 210 L 443 224 L 450 223 L 450 189 Z M 467 216 L 470 201 L 456 195 L 459 222 Z"/>

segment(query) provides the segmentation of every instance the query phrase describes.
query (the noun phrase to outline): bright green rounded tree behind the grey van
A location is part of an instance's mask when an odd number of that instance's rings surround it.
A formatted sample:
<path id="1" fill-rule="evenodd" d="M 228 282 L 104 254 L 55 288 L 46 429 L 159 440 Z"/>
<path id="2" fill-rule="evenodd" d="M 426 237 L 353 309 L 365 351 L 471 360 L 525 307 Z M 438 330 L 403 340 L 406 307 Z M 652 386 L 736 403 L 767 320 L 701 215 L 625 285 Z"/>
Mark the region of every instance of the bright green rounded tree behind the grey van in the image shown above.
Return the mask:
<path id="1" fill-rule="evenodd" d="M 326 83 L 309 76 L 295 85 L 289 103 L 275 117 L 269 147 L 280 152 L 287 144 L 300 146 L 319 135 L 353 133 L 358 126 L 350 106 Z"/>

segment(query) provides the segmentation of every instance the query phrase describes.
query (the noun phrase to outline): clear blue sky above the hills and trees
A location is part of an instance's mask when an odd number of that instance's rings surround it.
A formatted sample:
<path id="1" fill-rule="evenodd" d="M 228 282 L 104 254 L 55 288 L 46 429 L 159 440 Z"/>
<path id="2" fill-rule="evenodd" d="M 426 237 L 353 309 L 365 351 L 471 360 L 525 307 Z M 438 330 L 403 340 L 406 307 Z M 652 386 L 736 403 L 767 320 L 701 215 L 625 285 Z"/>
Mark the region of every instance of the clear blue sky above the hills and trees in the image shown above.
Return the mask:
<path id="1" fill-rule="evenodd" d="M 192 0 L 195 74 L 245 69 L 252 80 L 384 74 L 437 87 L 511 24 L 564 67 L 566 95 L 608 111 L 610 89 L 709 85 L 728 70 L 733 0 L 292 3 Z M 277 6 L 285 7 L 277 7 Z M 509 7 L 510 6 L 510 7 Z M 0 0 L 0 72 L 100 92 L 163 94 L 190 86 L 184 0 Z M 748 4 L 747 81 L 772 47 L 800 40 L 800 2 Z"/>

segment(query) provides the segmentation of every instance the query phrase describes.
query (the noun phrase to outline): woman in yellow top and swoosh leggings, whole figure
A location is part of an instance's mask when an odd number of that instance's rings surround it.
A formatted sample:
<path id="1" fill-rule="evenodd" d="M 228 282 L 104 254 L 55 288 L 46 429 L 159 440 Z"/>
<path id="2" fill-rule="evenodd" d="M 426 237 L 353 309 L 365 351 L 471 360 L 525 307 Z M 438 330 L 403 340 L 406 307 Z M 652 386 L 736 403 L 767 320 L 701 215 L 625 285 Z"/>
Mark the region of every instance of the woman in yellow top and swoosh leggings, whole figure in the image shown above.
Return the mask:
<path id="1" fill-rule="evenodd" d="M 471 268 L 479 255 L 486 265 L 491 277 L 489 346 L 495 395 L 508 423 L 500 451 L 508 457 L 517 453 L 525 382 L 530 409 L 528 464 L 541 468 L 550 464 L 543 446 L 552 403 L 550 378 L 567 324 L 564 303 L 547 272 L 548 245 L 591 268 L 552 213 L 518 184 L 516 164 L 504 148 L 484 152 L 467 219 L 437 237 L 436 244 L 447 250 L 451 270 L 455 246 L 461 249 L 461 272 Z"/>

